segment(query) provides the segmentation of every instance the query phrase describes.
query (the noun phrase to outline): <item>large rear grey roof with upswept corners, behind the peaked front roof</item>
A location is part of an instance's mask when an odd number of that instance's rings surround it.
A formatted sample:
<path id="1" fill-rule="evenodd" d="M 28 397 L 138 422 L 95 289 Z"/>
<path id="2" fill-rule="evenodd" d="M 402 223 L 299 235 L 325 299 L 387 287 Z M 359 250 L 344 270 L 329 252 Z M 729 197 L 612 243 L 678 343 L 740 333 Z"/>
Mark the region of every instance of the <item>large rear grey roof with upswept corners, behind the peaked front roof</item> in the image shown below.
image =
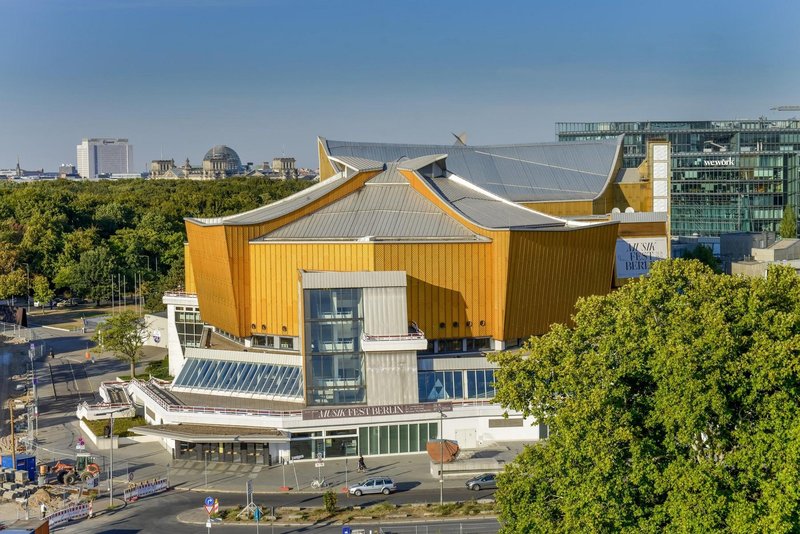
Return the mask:
<path id="1" fill-rule="evenodd" d="M 613 179 L 622 137 L 504 146 L 363 143 L 322 139 L 334 157 L 401 162 L 447 154 L 447 170 L 512 202 L 591 200 Z"/>

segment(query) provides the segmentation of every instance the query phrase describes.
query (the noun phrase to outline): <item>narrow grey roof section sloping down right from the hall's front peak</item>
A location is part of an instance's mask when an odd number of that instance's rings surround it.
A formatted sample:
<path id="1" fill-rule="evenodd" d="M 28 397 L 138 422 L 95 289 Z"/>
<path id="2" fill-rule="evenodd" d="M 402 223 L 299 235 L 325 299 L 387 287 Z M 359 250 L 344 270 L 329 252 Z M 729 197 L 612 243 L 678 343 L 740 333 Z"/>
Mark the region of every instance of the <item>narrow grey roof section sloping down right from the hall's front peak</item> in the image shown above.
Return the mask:
<path id="1" fill-rule="evenodd" d="M 427 182 L 465 217 L 486 228 L 564 226 L 562 219 L 492 198 L 452 178 L 432 178 Z"/>

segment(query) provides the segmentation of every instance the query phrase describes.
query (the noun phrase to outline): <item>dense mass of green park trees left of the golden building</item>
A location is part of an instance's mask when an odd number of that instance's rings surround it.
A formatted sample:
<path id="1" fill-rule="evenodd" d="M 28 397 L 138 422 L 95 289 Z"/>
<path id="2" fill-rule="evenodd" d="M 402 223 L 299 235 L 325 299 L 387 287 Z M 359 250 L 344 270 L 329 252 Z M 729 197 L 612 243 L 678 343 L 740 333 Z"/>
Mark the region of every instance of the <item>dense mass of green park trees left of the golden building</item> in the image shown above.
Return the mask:
<path id="1" fill-rule="evenodd" d="M 266 178 L 48 181 L 0 184 L 0 299 L 56 293 L 94 301 L 112 278 L 141 277 L 149 310 L 183 284 L 184 217 L 269 203 L 307 182 Z"/>

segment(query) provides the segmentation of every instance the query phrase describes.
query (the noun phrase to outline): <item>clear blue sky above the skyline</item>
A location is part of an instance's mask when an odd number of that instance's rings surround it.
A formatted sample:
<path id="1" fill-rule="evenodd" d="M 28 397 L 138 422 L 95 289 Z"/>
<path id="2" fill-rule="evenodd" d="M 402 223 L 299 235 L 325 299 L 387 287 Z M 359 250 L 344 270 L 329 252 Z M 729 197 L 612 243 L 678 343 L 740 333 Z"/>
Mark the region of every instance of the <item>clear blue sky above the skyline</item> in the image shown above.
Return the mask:
<path id="1" fill-rule="evenodd" d="M 552 141 L 557 121 L 788 118 L 800 3 L 0 0 L 0 168 L 127 137 L 317 166 L 317 136 Z"/>

